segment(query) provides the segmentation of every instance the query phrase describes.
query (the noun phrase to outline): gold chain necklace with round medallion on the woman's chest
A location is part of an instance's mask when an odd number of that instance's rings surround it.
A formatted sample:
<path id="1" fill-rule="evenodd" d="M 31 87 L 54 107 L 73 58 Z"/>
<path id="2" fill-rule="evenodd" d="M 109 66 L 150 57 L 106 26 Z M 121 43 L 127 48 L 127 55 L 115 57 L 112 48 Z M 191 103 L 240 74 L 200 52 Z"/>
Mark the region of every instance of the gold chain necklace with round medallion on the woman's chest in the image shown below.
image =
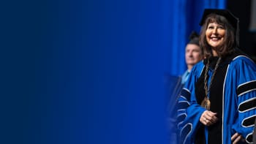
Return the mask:
<path id="1" fill-rule="evenodd" d="M 206 64 L 206 73 L 205 73 L 205 79 L 204 79 L 204 88 L 206 90 L 206 97 L 203 99 L 203 102 L 201 102 L 201 106 L 202 107 L 205 107 L 206 110 L 210 110 L 210 107 L 211 107 L 211 101 L 210 99 L 208 98 L 208 94 L 209 94 L 209 91 L 210 91 L 210 88 L 211 88 L 211 83 L 212 81 L 214 80 L 214 76 L 217 72 L 217 69 L 219 67 L 219 63 L 221 61 L 221 57 L 219 57 L 218 61 L 217 61 L 217 64 L 216 66 L 214 67 L 214 74 L 211 76 L 211 80 L 210 80 L 210 83 L 209 83 L 209 86 L 207 87 L 207 83 L 208 83 L 208 70 L 209 70 L 209 60 L 207 59 L 207 64 Z"/>

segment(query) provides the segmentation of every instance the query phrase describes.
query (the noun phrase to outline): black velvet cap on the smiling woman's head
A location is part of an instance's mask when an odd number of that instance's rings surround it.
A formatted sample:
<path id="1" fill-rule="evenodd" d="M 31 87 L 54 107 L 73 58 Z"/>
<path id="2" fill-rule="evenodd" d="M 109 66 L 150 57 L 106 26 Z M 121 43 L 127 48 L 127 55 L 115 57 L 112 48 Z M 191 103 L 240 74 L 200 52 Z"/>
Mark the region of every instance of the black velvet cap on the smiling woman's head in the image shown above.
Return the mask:
<path id="1" fill-rule="evenodd" d="M 210 15 L 212 13 L 224 16 L 225 18 L 227 18 L 227 20 L 230 22 L 234 29 L 238 29 L 239 19 L 236 18 L 229 10 L 222 9 L 205 9 L 199 25 L 203 26 L 203 23 L 205 22 L 207 15 Z"/>

